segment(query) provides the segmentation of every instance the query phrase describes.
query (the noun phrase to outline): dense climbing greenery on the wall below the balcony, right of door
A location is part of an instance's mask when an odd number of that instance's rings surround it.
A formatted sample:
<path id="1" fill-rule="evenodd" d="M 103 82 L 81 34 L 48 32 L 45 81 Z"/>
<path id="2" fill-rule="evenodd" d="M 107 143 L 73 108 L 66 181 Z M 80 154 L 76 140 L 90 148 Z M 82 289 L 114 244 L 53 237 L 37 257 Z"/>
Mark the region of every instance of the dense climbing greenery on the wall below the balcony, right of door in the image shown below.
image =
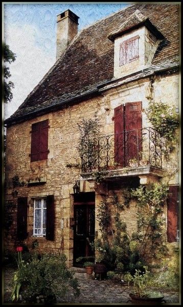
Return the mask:
<path id="1" fill-rule="evenodd" d="M 162 215 L 168 187 L 153 183 L 146 187 L 123 189 L 122 199 L 119 195 L 113 192 L 112 196 L 105 197 L 97 215 L 101 237 L 96 238 L 96 247 L 108 270 L 115 272 L 115 276 L 127 271 L 134 274 L 135 270 L 142 269 L 167 252 Z M 123 212 L 131 200 L 136 201 L 138 212 L 136 231 L 129 234 Z M 111 229 L 112 225 L 115 229 Z M 109 275 L 113 276 L 112 273 Z"/>

